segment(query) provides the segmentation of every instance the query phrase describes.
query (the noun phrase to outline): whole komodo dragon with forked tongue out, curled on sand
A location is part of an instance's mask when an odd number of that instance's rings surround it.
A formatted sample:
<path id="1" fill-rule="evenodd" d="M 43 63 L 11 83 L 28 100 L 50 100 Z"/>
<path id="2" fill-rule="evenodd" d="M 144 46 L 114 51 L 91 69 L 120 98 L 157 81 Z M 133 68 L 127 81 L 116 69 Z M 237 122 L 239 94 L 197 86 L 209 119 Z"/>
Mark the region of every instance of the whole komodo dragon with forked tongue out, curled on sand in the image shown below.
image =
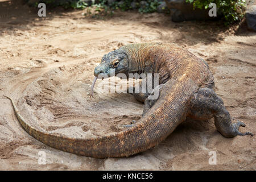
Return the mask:
<path id="1" fill-rule="evenodd" d="M 119 133 L 96 138 L 68 138 L 39 131 L 29 126 L 14 106 L 24 129 L 41 142 L 59 150 L 95 158 L 130 156 L 156 146 L 175 130 L 186 117 L 210 119 L 224 137 L 253 135 L 240 133 L 245 123 L 232 123 L 223 101 L 213 90 L 213 75 L 208 64 L 176 44 L 129 44 L 105 55 L 94 69 L 96 78 L 105 73 L 159 73 L 159 97 L 151 93 L 134 94 L 144 102 L 143 117 Z M 93 85 L 96 79 L 94 79 Z M 92 94 L 92 93 L 91 93 Z"/>

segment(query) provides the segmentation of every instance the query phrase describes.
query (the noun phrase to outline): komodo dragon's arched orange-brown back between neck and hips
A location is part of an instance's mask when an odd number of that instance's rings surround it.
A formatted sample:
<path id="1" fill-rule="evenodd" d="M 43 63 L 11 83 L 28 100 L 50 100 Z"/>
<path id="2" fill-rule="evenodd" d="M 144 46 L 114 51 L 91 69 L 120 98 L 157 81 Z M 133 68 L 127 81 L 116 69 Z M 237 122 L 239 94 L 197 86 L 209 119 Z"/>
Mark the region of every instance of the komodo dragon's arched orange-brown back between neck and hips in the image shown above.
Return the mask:
<path id="1" fill-rule="evenodd" d="M 208 64 L 187 49 L 174 43 L 141 43 L 121 47 L 138 65 L 152 67 L 159 73 L 159 84 L 186 74 L 197 86 L 214 86 L 214 78 Z"/>

